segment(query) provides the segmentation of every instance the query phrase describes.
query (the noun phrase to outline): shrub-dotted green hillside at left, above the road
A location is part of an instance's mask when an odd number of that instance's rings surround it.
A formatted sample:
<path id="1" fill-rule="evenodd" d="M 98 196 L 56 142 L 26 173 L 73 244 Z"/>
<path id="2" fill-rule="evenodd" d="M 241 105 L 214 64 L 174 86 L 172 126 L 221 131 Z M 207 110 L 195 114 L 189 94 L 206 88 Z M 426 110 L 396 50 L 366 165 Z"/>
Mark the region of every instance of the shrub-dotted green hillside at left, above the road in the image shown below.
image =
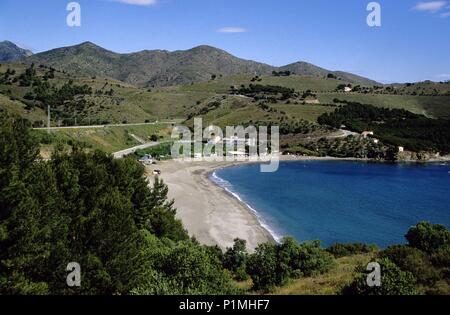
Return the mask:
<path id="1" fill-rule="evenodd" d="M 52 72 L 51 78 L 47 78 L 51 68 L 37 66 L 33 82 L 22 84 L 20 77 L 27 69 L 29 66 L 23 64 L 0 66 L 0 95 L 3 99 L 16 101 L 17 108 L 13 111 L 29 118 L 36 127 L 42 127 L 42 117 L 33 113 L 42 114 L 47 110 L 47 105 L 52 107 L 54 126 L 58 122 L 62 125 L 143 123 L 183 117 L 186 107 L 194 106 L 197 101 L 209 97 L 209 94 L 188 91 L 149 91 L 113 79 L 75 77 L 57 70 Z M 14 74 L 5 79 L 8 71 Z M 43 94 L 40 97 L 45 97 L 44 102 L 36 99 L 35 91 L 38 86 L 35 81 L 49 85 L 44 93 L 40 93 Z M 69 82 L 72 82 L 73 87 L 87 86 L 88 93 L 54 100 L 53 96 L 61 95 L 60 89 Z M 11 104 L 1 102 L 0 107 L 11 109 Z"/>

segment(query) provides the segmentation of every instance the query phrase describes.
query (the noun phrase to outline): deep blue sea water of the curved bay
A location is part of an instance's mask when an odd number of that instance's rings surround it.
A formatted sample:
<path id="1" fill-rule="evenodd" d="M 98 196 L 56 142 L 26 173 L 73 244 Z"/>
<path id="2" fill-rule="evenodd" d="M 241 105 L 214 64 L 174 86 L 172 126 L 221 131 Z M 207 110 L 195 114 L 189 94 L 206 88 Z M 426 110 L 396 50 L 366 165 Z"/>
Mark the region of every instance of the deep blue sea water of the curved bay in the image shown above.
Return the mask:
<path id="1" fill-rule="evenodd" d="M 212 179 L 257 213 L 276 239 L 363 242 L 384 248 L 405 243 L 420 221 L 450 227 L 449 164 L 347 161 L 281 162 L 217 170 Z"/>

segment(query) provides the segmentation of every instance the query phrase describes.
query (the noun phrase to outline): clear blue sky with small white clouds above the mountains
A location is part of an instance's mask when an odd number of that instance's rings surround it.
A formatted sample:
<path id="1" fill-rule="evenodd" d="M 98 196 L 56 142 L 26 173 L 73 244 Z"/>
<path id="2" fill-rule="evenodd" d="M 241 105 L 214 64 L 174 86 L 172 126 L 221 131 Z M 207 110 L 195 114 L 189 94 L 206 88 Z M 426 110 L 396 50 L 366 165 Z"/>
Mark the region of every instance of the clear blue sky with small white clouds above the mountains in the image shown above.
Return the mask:
<path id="1" fill-rule="evenodd" d="M 285 65 L 307 61 L 382 82 L 450 79 L 450 0 L 377 1 L 382 26 L 366 23 L 368 0 L 1 0 L 0 40 L 40 52 L 92 41 L 116 52 L 207 44 Z M 126 3 L 128 2 L 128 3 Z"/>

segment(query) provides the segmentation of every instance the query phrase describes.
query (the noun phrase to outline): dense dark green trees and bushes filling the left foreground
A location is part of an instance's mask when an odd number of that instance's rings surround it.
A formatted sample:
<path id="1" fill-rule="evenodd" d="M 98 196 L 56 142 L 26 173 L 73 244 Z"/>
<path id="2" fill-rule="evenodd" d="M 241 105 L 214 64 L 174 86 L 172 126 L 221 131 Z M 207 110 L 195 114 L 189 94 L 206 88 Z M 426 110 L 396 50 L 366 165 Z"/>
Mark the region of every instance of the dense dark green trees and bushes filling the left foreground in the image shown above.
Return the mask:
<path id="1" fill-rule="evenodd" d="M 292 239 L 254 254 L 243 241 L 225 254 L 199 245 L 133 159 L 74 147 L 45 162 L 28 122 L 1 112 L 0 126 L 1 294 L 237 293 L 230 275 L 267 291 L 333 263 L 319 243 Z M 82 266 L 79 288 L 66 286 L 70 262 Z"/>

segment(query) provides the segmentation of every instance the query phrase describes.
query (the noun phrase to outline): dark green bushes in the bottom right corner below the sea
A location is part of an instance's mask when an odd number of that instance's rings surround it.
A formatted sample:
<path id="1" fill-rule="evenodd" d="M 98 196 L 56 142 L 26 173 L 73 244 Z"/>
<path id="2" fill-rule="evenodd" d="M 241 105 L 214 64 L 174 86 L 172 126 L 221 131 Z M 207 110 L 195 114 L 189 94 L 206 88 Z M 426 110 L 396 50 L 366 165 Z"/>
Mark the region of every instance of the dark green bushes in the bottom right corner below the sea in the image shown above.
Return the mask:
<path id="1" fill-rule="evenodd" d="M 442 225 L 421 222 L 405 237 L 408 244 L 388 247 L 376 257 L 381 265 L 381 287 L 367 286 L 367 272 L 361 266 L 343 293 L 450 294 L 450 231 Z"/>

